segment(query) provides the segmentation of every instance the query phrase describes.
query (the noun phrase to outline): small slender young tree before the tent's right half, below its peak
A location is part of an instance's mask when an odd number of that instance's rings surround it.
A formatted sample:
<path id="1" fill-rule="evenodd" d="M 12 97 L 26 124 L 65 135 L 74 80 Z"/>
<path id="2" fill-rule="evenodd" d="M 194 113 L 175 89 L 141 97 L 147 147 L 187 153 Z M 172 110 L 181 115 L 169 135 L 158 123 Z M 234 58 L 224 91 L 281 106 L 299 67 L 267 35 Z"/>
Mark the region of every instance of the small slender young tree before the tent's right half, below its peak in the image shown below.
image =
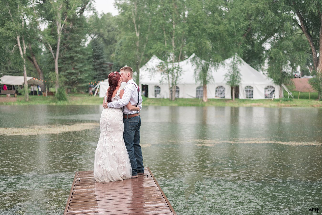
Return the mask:
<path id="1" fill-rule="evenodd" d="M 240 64 L 240 60 L 238 58 L 237 54 L 232 57 L 232 61 L 229 65 L 230 70 L 225 74 L 225 81 L 232 87 L 232 101 L 235 101 L 235 87 L 238 86 L 242 80 L 241 73 L 238 68 L 238 65 Z"/>

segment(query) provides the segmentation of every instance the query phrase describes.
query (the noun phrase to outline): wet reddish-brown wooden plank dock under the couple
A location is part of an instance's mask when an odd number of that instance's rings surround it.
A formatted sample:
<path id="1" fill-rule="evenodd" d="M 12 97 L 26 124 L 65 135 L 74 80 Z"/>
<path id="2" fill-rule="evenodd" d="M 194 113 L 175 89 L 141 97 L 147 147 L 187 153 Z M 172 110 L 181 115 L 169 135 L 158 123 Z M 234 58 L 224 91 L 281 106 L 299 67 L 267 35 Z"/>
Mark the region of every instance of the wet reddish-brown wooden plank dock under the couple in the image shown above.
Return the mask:
<path id="1" fill-rule="evenodd" d="M 80 181 L 79 181 L 80 179 Z M 124 181 L 97 182 L 93 171 L 76 172 L 64 215 L 175 215 L 149 168 Z"/>

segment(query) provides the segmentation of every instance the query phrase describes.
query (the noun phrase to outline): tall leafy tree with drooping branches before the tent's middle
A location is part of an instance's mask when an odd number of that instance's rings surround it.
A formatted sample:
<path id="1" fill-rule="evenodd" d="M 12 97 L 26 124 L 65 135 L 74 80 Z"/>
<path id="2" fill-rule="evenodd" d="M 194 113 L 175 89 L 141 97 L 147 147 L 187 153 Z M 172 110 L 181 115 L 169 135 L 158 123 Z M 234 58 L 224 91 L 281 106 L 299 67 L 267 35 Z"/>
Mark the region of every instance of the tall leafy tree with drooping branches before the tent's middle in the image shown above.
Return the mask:
<path id="1" fill-rule="evenodd" d="M 196 82 L 203 85 L 203 101 L 207 102 L 207 84 L 213 80 L 210 66 L 217 66 L 222 60 L 222 33 L 217 29 L 222 24 L 219 17 L 223 17 L 220 3 L 213 0 L 197 0 L 189 2 L 187 15 L 189 37 L 187 44 L 194 53 L 194 71 Z"/>

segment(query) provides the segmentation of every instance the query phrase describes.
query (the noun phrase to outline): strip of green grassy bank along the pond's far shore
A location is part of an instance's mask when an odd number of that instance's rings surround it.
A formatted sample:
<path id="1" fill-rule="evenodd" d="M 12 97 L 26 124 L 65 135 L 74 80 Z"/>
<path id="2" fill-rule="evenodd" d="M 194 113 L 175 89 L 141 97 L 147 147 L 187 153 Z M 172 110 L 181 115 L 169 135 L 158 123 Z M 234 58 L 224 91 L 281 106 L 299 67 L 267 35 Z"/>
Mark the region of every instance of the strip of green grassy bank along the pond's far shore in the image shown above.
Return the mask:
<path id="1" fill-rule="evenodd" d="M 209 99 L 207 103 L 200 99 L 176 99 L 169 101 L 168 99 L 150 99 L 143 98 L 143 105 L 156 106 L 232 106 L 232 107 L 317 107 L 322 108 L 322 101 L 317 101 L 317 93 L 299 93 L 292 91 L 294 99 L 288 99 L 288 94 L 284 94 L 284 99 L 265 99 L 265 100 L 249 100 L 249 99 Z M 310 98 L 310 99 L 308 99 Z M 23 96 L 18 96 L 15 102 L 1 102 L 0 105 L 34 105 L 34 104 L 50 104 L 50 105 L 99 105 L 103 99 L 98 96 L 88 96 L 84 94 L 70 94 L 68 101 L 57 101 L 53 96 L 29 96 L 30 101 L 25 102 Z"/>

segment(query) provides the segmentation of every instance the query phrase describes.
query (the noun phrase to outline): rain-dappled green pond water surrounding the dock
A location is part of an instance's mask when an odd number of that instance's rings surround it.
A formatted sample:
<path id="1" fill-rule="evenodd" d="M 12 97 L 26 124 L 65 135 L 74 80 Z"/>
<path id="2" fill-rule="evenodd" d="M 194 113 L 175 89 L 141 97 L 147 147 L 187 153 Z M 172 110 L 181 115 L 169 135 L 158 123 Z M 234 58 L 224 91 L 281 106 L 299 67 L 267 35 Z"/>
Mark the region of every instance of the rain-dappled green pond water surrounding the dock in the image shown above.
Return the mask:
<path id="1" fill-rule="evenodd" d="M 101 111 L 0 106 L 0 214 L 63 213 L 75 171 L 93 170 Z M 178 215 L 322 211 L 322 109 L 145 106 L 141 118 L 144 165 Z"/>

